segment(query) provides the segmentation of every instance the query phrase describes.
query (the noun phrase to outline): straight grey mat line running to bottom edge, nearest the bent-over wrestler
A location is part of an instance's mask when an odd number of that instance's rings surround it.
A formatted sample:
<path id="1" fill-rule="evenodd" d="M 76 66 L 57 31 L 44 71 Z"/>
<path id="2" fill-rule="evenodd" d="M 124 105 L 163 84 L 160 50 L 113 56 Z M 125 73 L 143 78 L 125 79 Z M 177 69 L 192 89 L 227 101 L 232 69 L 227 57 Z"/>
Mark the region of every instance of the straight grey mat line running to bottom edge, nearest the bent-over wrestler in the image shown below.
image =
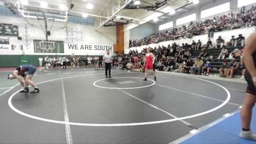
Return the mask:
<path id="1" fill-rule="evenodd" d="M 64 83 L 63 83 L 62 75 L 61 75 L 61 89 L 62 89 L 64 119 L 65 119 L 65 122 L 69 123 L 67 102 L 66 102 L 66 97 L 65 97 L 65 89 L 64 89 Z M 65 124 L 65 131 L 66 131 L 67 144 L 73 144 L 72 134 L 71 134 L 71 129 L 70 129 L 70 125 L 69 124 Z"/>

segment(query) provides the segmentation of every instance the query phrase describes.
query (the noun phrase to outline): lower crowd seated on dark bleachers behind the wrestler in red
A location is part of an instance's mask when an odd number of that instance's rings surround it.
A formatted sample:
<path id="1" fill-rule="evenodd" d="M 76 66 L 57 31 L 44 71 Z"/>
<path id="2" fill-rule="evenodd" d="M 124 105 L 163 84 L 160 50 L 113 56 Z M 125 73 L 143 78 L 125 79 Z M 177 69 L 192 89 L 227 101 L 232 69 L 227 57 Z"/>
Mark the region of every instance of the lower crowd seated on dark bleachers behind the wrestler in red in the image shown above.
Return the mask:
<path id="1" fill-rule="evenodd" d="M 208 40 L 207 44 L 202 44 L 200 40 L 198 42 L 193 41 L 191 44 L 176 44 L 167 47 L 158 46 L 151 48 L 151 52 L 156 56 L 156 68 L 160 71 L 171 71 L 171 72 L 184 72 L 187 74 L 199 74 L 209 76 L 212 70 L 211 61 L 223 60 L 223 66 L 219 69 L 221 77 L 234 77 L 234 74 L 239 70 L 244 70 L 243 63 L 238 63 L 241 60 L 242 50 L 234 49 L 232 52 L 228 52 L 226 48 L 228 46 L 244 46 L 244 36 L 238 35 L 230 36 L 230 40 L 225 42 L 221 36 L 216 39 L 216 45 L 212 45 L 211 39 Z M 210 56 L 207 49 L 213 49 L 220 51 L 220 55 L 214 58 Z M 192 55 L 191 51 L 200 49 L 198 55 Z M 137 50 L 130 50 L 127 56 L 123 56 L 123 68 L 129 66 L 131 68 L 141 68 L 143 71 L 144 56 L 146 54 L 146 48 L 141 52 Z M 135 62 L 136 61 L 136 62 Z M 230 61 L 229 63 L 227 61 Z M 142 65 L 140 64 L 142 63 Z M 138 65 L 140 67 L 138 67 Z M 126 66 L 126 67 L 125 67 Z"/>

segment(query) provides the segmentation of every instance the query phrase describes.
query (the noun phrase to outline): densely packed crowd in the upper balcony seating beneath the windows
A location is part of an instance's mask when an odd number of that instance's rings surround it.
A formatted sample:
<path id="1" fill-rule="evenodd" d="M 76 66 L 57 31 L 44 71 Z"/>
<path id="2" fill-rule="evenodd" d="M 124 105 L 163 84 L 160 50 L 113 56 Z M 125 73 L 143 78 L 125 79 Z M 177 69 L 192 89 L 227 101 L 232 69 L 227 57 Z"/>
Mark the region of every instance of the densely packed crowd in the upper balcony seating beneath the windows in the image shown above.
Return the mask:
<path id="1" fill-rule="evenodd" d="M 228 13 L 213 19 L 201 20 L 200 22 L 190 22 L 188 26 L 183 25 L 180 28 L 168 29 L 152 36 L 147 36 L 141 40 L 130 40 L 129 47 L 137 47 L 148 44 L 158 44 L 168 40 L 178 40 L 180 38 L 191 38 L 196 35 L 208 33 L 212 38 L 214 32 L 230 29 L 245 28 L 256 25 L 256 7 L 252 6 L 250 10 L 242 7 L 238 13 Z M 209 44 L 211 45 L 211 44 Z"/>

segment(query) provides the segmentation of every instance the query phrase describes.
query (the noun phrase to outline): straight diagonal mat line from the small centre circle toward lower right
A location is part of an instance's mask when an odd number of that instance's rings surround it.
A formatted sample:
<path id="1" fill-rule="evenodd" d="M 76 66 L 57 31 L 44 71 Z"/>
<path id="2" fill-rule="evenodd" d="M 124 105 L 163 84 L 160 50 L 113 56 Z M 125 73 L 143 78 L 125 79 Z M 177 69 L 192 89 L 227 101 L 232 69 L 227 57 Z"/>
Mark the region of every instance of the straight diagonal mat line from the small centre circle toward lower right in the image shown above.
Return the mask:
<path id="1" fill-rule="evenodd" d="M 94 77 L 95 79 L 98 79 L 98 78 L 95 77 L 95 76 L 91 76 L 91 77 Z M 104 81 L 104 83 L 106 83 L 106 82 Z M 110 85 L 113 86 L 112 84 L 110 84 Z M 113 86 L 113 87 L 115 88 L 115 86 Z M 155 108 L 155 109 L 157 109 L 157 110 L 159 110 L 159 111 L 162 111 L 163 113 L 166 113 L 167 115 L 171 116 L 172 118 L 179 118 L 179 117 L 177 117 L 177 116 L 175 116 L 175 115 L 172 115 L 171 113 L 168 113 L 167 111 L 164 111 L 164 110 L 161 109 L 161 108 L 158 108 L 157 106 L 154 106 L 153 104 L 150 104 L 150 103 L 146 102 L 145 100 L 142 100 L 142 99 L 140 99 L 140 98 L 138 98 L 138 97 L 135 97 L 135 96 L 132 95 L 131 93 L 127 93 L 127 92 L 125 92 L 125 91 L 122 90 L 122 89 L 117 89 L 117 90 L 119 90 L 120 92 L 125 93 L 126 95 L 129 95 L 130 97 L 132 97 L 132 98 L 134 98 L 134 99 L 136 99 L 136 100 L 139 100 L 140 102 L 143 102 L 144 104 L 147 104 L 148 106 L 151 106 L 152 108 Z M 185 124 L 185 125 L 188 125 L 189 127 L 194 127 L 192 124 L 189 124 L 189 123 L 186 122 L 185 120 L 179 120 L 179 121 L 182 122 L 182 123 Z"/>

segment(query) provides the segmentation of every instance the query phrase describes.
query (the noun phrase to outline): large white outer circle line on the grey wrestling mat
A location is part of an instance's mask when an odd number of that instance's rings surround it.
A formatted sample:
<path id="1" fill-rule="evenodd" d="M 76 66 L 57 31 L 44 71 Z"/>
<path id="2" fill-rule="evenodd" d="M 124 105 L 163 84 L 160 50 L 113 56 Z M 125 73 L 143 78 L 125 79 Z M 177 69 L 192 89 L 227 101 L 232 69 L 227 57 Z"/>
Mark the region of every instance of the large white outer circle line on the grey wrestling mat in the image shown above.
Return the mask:
<path id="1" fill-rule="evenodd" d="M 138 72 L 138 73 L 141 74 L 140 72 Z M 124 72 L 123 73 L 118 73 L 118 74 L 124 74 Z M 126 74 L 135 74 L 135 73 L 126 73 Z M 81 75 L 81 76 L 70 76 L 70 77 L 63 77 L 63 79 L 68 79 L 68 78 L 72 78 L 72 77 L 92 76 L 92 75 L 93 74 L 91 74 L 91 75 Z M 94 74 L 94 75 L 100 75 L 100 74 Z M 103 74 L 101 74 L 101 75 L 103 75 Z M 43 81 L 43 82 L 37 83 L 37 84 L 48 83 L 50 81 L 56 81 L 56 80 L 60 80 L 60 79 L 51 79 L 51 80 Z M 193 79 L 200 79 L 200 78 L 193 77 Z M 207 81 L 205 79 L 200 79 L 200 80 Z M 166 123 L 166 122 L 174 122 L 174 121 L 177 121 L 177 120 L 185 120 L 185 119 L 188 119 L 188 118 L 195 118 L 196 116 L 206 115 L 208 113 L 216 111 L 216 110 L 222 108 L 223 106 L 225 106 L 228 103 L 228 101 L 230 100 L 230 92 L 227 90 L 227 88 L 225 88 L 224 86 L 221 86 L 220 84 L 217 84 L 217 83 L 214 83 L 214 82 L 211 82 L 211 81 L 207 81 L 207 82 L 220 86 L 227 93 L 227 99 L 223 103 L 221 103 L 219 106 L 216 106 L 216 108 L 209 109 L 208 111 L 204 111 L 202 113 L 197 113 L 195 115 L 183 116 L 183 117 L 180 117 L 180 118 L 172 118 L 172 119 L 168 119 L 168 120 L 152 121 L 152 122 L 138 122 L 138 123 L 128 123 L 128 124 L 84 124 L 84 123 L 77 123 L 77 122 L 65 122 L 65 121 L 59 121 L 59 120 L 51 120 L 51 119 L 47 119 L 47 118 L 40 118 L 38 116 L 33 116 L 33 115 L 29 115 L 28 113 L 24 113 L 24 112 L 20 111 L 19 109 L 15 108 L 13 106 L 12 99 L 17 93 L 19 93 L 19 91 L 13 93 L 9 97 L 8 105 L 10 106 L 10 108 L 13 111 L 15 111 L 16 113 L 19 113 L 20 115 L 27 116 L 27 117 L 33 118 L 35 120 L 41 120 L 41 121 L 44 121 L 44 122 L 52 122 L 52 123 L 56 123 L 56 124 L 69 124 L 69 125 L 92 126 L 92 127 L 122 127 L 122 126 L 134 126 L 134 125 L 163 124 L 163 123 Z"/>

